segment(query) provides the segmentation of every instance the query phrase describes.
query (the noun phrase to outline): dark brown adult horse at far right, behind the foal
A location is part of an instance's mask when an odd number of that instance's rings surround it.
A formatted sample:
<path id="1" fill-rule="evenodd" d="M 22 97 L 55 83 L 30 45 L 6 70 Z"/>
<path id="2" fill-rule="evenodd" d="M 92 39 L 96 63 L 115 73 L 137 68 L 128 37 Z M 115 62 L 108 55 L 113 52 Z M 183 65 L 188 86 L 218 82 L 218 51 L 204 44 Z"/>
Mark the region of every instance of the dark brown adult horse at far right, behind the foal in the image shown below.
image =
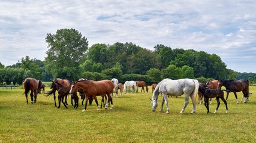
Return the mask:
<path id="1" fill-rule="evenodd" d="M 234 93 L 236 97 L 236 103 L 238 104 L 236 92 L 243 92 L 243 96 L 245 96 L 245 103 L 248 102 L 249 97 L 249 81 L 248 80 L 219 80 L 218 88 L 224 86 L 227 90 L 230 90 Z M 226 101 L 228 100 L 228 93 L 226 97 Z"/>

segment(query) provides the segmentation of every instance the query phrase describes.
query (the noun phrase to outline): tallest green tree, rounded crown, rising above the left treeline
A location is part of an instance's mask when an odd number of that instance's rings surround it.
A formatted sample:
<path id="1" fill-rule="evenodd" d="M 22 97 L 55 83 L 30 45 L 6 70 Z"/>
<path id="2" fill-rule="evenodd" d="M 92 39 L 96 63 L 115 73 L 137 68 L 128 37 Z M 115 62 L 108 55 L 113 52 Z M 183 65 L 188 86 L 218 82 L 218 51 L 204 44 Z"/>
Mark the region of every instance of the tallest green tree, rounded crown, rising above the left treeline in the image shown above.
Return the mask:
<path id="1" fill-rule="evenodd" d="M 53 78 L 79 79 L 80 63 L 88 50 L 88 41 L 75 29 L 59 29 L 46 36 L 48 50 L 45 58 L 46 70 Z"/>

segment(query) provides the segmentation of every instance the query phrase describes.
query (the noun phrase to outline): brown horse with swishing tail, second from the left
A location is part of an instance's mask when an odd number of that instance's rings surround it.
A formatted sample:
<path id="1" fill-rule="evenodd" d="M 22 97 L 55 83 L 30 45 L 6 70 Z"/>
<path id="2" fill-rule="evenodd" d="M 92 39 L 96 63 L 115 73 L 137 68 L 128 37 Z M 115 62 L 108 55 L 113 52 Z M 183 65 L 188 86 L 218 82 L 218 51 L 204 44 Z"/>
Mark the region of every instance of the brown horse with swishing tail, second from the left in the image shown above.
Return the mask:
<path id="1" fill-rule="evenodd" d="M 55 92 L 56 92 L 57 88 L 56 88 L 56 84 L 54 82 L 58 82 L 59 84 L 64 85 L 64 86 L 68 86 L 68 85 L 71 85 L 71 84 L 70 84 L 70 81 L 68 79 L 59 79 L 59 78 L 57 78 L 57 79 L 52 81 L 52 85 L 50 86 L 50 89 L 52 89 L 52 91 L 47 92 L 46 95 L 50 96 L 50 95 L 53 94 L 54 104 L 55 104 L 55 107 L 57 107 L 57 105 L 56 105 L 56 95 L 55 95 Z M 68 105 L 67 96 L 65 97 L 65 104 Z"/>

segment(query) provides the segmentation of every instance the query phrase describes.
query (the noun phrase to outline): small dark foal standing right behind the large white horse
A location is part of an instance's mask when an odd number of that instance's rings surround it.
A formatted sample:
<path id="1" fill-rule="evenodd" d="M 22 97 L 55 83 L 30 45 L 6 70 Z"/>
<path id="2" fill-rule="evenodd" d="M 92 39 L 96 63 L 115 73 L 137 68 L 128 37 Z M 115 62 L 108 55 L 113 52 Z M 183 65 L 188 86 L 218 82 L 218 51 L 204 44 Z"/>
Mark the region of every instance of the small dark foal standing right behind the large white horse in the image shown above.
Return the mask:
<path id="1" fill-rule="evenodd" d="M 208 88 L 205 88 L 205 87 L 202 87 L 202 86 L 199 86 L 198 91 L 201 92 L 204 96 L 204 99 L 205 99 L 204 105 L 207 109 L 207 114 L 210 113 L 209 98 L 214 98 L 214 97 L 216 97 L 216 100 L 217 100 L 217 108 L 216 108 L 214 113 L 216 113 L 218 111 L 219 104 L 221 104 L 219 102 L 219 98 L 221 98 L 221 100 L 226 105 L 226 113 L 228 113 L 228 105 L 227 105 L 227 101 L 225 101 L 223 91 L 226 91 L 226 92 L 230 92 L 230 91 L 225 90 L 225 89 L 208 89 Z"/>

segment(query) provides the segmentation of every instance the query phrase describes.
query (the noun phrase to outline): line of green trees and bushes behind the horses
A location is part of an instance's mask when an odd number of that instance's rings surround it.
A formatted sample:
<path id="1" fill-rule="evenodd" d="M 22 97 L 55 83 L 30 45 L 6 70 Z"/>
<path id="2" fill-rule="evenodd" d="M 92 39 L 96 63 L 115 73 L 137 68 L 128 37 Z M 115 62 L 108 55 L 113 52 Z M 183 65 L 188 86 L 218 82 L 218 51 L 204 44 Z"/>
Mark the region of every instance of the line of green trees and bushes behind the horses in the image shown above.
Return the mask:
<path id="1" fill-rule="evenodd" d="M 135 43 L 97 43 L 88 40 L 76 29 L 59 29 L 48 33 L 47 57 L 44 61 L 23 57 L 20 62 L 5 67 L 0 63 L 0 82 L 22 84 L 26 77 L 43 81 L 55 78 L 78 80 L 112 79 L 144 80 L 148 84 L 162 79 L 249 79 L 256 82 L 254 73 L 238 73 L 216 54 L 194 49 L 173 49 L 158 44 L 149 50 Z"/>

